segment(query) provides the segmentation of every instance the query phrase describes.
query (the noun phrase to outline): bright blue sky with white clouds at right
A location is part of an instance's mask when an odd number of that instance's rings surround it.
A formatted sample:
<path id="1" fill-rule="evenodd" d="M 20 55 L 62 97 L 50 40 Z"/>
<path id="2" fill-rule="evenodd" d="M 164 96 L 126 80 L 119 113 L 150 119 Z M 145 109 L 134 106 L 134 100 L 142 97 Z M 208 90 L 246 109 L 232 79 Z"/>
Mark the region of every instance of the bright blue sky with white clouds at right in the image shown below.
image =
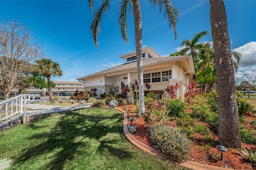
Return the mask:
<path id="1" fill-rule="evenodd" d="M 95 1 L 95 10 L 100 1 Z M 113 0 L 105 13 L 98 38 L 98 49 L 90 33 L 92 14 L 87 0 L 0 0 L 0 19 L 18 18 L 32 31 L 48 57 L 60 63 L 62 77 L 51 80 L 77 81 L 76 78 L 123 64 L 119 56 L 135 51 L 134 20 L 128 15 L 128 41 L 122 40 L 118 20 L 119 0 Z M 256 75 L 256 0 L 224 0 L 228 17 L 231 49 L 242 53 L 236 78 Z M 178 39 L 168 21 L 140 0 L 142 45 L 151 46 L 162 57 L 178 51 L 184 39 L 195 33 L 211 31 L 208 0 L 172 0 L 179 10 Z M 95 12 L 95 11 L 94 11 Z M 202 42 L 212 41 L 212 36 Z"/>

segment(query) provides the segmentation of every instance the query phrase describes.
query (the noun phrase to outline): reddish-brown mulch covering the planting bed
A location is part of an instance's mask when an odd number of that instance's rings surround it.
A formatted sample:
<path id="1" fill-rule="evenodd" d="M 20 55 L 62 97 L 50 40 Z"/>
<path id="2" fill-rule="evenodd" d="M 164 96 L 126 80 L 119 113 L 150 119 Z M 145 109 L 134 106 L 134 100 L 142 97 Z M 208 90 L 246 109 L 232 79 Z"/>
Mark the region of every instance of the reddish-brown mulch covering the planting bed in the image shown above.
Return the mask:
<path id="1" fill-rule="evenodd" d="M 118 106 L 120 109 L 124 109 L 124 106 Z M 131 107 L 131 111 L 128 111 L 128 108 Z M 133 118 L 135 117 L 134 121 L 132 122 L 132 125 L 136 125 L 136 132 L 132 134 L 138 141 L 144 143 L 145 145 L 151 146 L 152 143 L 146 136 L 146 133 L 148 133 L 148 128 L 145 125 L 144 118 L 138 117 L 138 114 L 133 114 L 132 105 L 127 106 L 127 113 L 128 113 L 128 119 L 130 119 L 130 116 Z M 254 116 L 249 116 L 248 119 L 256 119 Z M 128 121 L 130 123 L 130 121 Z M 175 122 L 173 123 L 173 125 Z M 250 124 L 246 124 L 250 125 Z M 250 126 L 252 127 L 252 126 Z M 254 128 L 254 127 L 253 127 Z M 208 164 L 212 166 L 220 166 L 220 167 L 227 167 L 227 168 L 234 168 L 237 170 L 252 170 L 256 169 L 255 166 L 253 166 L 250 162 L 243 159 L 240 154 L 238 154 L 234 149 L 230 150 L 228 149 L 227 152 L 223 153 L 223 161 L 221 161 L 220 158 L 220 151 L 216 149 L 216 145 L 218 144 L 218 136 L 217 135 L 209 135 L 212 139 L 214 139 L 214 145 L 213 147 L 210 147 L 209 152 L 205 150 L 205 147 L 201 145 L 201 142 L 207 144 L 208 141 L 204 139 L 202 135 L 199 133 L 197 134 L 198 137 L 196 137 L 195 141 L 197 145 L 194 145 L 193 149 L 190 150 L 190 156 L 191 161 L 199 162 L 202 164 Z M 242 143 L 242 147 L 246 148 L 247 150 L 256 150 L 256 145 Z"/>

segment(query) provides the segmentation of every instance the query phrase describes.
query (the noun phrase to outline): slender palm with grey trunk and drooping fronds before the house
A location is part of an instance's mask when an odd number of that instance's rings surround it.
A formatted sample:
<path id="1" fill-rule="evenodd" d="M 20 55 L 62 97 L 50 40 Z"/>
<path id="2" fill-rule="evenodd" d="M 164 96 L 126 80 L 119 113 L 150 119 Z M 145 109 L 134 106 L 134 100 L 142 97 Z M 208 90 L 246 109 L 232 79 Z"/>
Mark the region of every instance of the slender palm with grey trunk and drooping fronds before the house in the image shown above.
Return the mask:
<path id="1" fill-rule="evenodd" d="M 152 7 L 158 6 L 158 11 L 164 10 L 164 18 L 168 19 L 170 27 L 174 29 L 175 39 L 177 38 L 176 22 L 178 21 L 178 10 L 172 6 L 170 0 L 148 0 Z M 93 12 L 93 0 L 88 0 L 90 10 Z M 110 0 L 102 0 L 102 4 L 98 11 L 94 14 L 94 20 L 90 27 L 92 36 L 94 38 L 94 44 L 98 48 L 98 35 L 100 33 L 100 25 L 104 12 L 109 12 Z M 138 83 L 139 83 L 139 117 L 141 113 L 145 112 L 144 104 L 144 86 L 143 86 L 143 67 L 142 67 L 142 19 L 140 11 L 139 0 L 120 0 L 120 12 L 118 17 L 118 23 L 122 33 L 122 38 L 128 43 L 127 38 L 127 23 L 126 14 L 127 10 L 132 11 L 133 6 L 134 14 L 134 29 L 135 29 L 135 43 L 136 43 L 136 56 L 137 56 L 137 70 L 138 70 Z"/>

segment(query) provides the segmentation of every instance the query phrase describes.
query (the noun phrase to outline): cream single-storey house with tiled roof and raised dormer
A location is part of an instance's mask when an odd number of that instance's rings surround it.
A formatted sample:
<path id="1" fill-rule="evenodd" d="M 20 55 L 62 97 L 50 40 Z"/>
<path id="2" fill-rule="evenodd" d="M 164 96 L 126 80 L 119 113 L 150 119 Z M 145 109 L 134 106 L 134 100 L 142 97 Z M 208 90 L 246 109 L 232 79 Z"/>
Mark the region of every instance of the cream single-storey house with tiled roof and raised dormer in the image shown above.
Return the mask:
<path id="1" fill-rule="evenodd" d="M 114 96 L 116 96 L 121 93 L 122 82 L 130 86 L 134 79 L 138 80 L 136 51 L 119 57 L 124 59 L 124 64 L 77 78 L 76 80 L 84 82 L 85 90 L 97 88 L 97 94 L 99 95 L 104 92 L 109 93 L 110 89 L 112 89 L 115 92 Z M 153 92 L 158 91 L 158 93 L 162 91 L 165 96 L 167 93 L 164 88 L 178 82 L 180 89 L 177 92 L 177 96 L 183 98 L 186 86 L 195 74 L 191 55 L 161 57 L 154 49 L 146 47 L 142 49 L 142 59 L 144 83 L 148 82 L 152 85 L 150 90 Z"/>

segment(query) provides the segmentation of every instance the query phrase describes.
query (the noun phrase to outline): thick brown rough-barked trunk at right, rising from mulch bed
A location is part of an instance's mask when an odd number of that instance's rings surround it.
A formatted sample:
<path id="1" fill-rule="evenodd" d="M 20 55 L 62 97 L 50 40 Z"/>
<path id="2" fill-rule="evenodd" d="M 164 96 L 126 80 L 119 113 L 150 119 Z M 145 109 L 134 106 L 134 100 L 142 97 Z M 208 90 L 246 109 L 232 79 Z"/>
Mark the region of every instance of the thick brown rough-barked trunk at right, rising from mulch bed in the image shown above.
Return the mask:
<path id="1" fill-rule="evenodd" d="M 210 0 L 210 23 L 218 84 L 218 142 L 225 147 L 241 148 L 234 67 L 223 0 Z"/>

